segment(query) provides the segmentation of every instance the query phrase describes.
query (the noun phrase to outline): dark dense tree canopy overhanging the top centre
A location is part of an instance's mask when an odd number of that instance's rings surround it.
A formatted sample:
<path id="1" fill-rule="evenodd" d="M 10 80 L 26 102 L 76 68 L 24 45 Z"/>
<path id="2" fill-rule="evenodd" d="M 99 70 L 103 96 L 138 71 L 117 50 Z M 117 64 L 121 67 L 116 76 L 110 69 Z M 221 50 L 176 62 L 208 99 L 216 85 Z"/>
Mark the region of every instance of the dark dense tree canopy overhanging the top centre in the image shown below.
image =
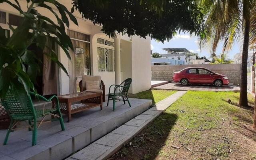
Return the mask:
<path id="1" fill-rule="evenodd" d="M 203 16 L 194 0 L 76 0 L 74 9 L 108 36 L 150 36 L 164 42 L 176 31 L 200 35 Z"/>

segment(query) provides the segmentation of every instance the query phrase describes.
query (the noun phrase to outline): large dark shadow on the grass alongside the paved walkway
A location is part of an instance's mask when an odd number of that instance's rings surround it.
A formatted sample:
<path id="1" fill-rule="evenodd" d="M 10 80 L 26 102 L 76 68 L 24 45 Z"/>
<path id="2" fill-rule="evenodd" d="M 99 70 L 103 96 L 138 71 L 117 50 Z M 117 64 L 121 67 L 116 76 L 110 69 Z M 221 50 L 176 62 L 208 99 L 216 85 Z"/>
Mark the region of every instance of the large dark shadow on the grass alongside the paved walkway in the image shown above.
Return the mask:
<path id="1" fill-rule="evenodd" d="M 163 112 L 142 132 L 125 144 L 114 156 L 114 160 L 154 160 L 170 134 L 178 116 Z"/>

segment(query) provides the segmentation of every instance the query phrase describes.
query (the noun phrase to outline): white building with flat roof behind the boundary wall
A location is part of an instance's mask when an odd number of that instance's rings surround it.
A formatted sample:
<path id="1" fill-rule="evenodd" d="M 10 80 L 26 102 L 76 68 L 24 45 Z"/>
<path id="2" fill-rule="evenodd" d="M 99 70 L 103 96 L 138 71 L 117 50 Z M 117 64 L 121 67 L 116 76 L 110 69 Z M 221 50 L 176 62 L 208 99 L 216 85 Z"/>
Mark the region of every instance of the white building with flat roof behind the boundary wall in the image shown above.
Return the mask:
<path id="1" fill-rule="evenodd" d="M 182 65 L 192 64 L 198 54 L 191 53 L 186 48 L 163 48 L 167 54 L 161 54 L 160 58 L 151 58 L 151 65 Z"/>

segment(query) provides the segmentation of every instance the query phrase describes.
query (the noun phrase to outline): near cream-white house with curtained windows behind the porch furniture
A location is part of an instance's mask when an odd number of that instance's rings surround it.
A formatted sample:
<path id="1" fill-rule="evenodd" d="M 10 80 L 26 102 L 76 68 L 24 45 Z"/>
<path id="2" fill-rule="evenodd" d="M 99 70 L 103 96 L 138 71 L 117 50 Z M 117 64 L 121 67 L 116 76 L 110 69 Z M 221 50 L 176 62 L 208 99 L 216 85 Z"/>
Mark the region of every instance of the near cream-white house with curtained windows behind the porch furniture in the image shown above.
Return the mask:
<path id="1" fill-rule="evenodd" d="M 14 0 L 10 0 L 15 3 Z M 72 0 L 59 0 L 68 10 L 72 8 Z M 20 0 L 20 5 L 26 10 L 26 0 Z M 57 8 L 52 7 L 57 11 Z M 56 22 L 55 16 L 45 8 L 38 9 L 40 14 Z M 38 93 L 69 94 L 78 91 L 78 83 L 82 75 L 99 75 L 103 80 L 108 94 L 112 84 L 120 84 L 126 78 L 132 78 L 130 93 L 138 93 L 150 89 L 150 37 L 128 37 L 116 34 L 108 37 L 101 31 L 102 26 L 94 25 L 89 20 L 84 20 L 79 12 L 74 12 L 78 26 L 70 20 L 70 27 L 66 33 L 70 36 L 74 52 L 70 51 L 69 60 L 60 46 L 52 44 L 58 52 L 59 61 L 68 70 L 67 76 L 63 70 L 49 62 L 42 54 L 43 72 L 37 77 L 36 86 Z M 6 30 L 6 35 L 12 35 L 9 25 L 14 28 L 20 24 L 19 12 L 7 3 L 0 4 L 0 26 Z M 30 46 L 36 53 L 42 53 L 36 45 Z M 47 64 L 47 65 L 46 65 Z M 49 65 L 50 64 L 50 65 Z M 49 72 L 50 70 L 50 72 Z M 51 74 L 49 74 L 51 73 Z"/>

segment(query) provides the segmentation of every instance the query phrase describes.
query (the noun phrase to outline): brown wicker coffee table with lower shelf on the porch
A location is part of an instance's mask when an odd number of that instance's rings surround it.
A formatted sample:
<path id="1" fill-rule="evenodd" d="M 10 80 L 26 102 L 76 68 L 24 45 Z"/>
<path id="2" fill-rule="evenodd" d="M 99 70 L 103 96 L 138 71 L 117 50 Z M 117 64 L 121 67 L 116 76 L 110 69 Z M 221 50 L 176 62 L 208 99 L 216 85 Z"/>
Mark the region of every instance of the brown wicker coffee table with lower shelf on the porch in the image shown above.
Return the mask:
<path id="1" fill-rule="evenodd" d="M 60 112 L 68 114 L 68 122 L 71 114 L 82 112 L 100 105 L 102 110 L 102 93 L 100 92 L 81 92 L 76 94 L 66 94 L 58 96 L 60 102 Z"/>

